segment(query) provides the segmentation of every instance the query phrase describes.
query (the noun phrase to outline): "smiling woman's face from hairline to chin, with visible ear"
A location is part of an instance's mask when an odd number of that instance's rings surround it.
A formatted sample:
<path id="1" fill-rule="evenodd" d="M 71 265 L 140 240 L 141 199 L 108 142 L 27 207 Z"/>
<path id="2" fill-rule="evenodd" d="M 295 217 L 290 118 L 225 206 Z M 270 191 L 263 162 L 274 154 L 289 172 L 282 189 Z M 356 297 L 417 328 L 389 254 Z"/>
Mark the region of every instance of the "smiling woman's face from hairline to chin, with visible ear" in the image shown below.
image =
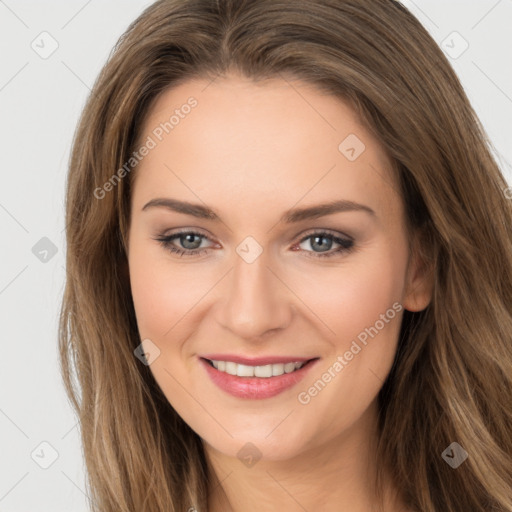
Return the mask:
<path id="1" fill-rule="evenodd" d="M 272 460 L 374 422 L 403 310 L 430 292 L 353 111 L 231 75 L 167 91 L 140 140 L 131 289 L 174 409 L 213 450 Z"/>

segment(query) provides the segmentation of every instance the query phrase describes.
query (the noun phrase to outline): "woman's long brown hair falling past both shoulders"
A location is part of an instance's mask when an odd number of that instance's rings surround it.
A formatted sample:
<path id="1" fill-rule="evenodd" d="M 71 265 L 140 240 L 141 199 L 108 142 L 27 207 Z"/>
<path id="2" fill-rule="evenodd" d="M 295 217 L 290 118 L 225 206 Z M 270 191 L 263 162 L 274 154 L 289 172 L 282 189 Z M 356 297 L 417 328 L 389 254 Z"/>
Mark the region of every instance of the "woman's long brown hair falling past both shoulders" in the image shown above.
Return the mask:
<path id="1" fill-rule="evenodd" d="M 512 201 L 443 52 L 392 0 L 160 0 L 118 41 L 74 137 L 59 333 L 94 510 L 208 509 L 201 439 L 134 356 L 134 172 L 98 190 L 129 161 L 160 93 L 230 71 L 349 102 L 388 152 L 434 289 L 425 310 L 405 312 L 379 394 L 378 467 L 413 510 L 511 512 Z M 441 457 L 452 442 L 468 453 L 457 469 Z"/>

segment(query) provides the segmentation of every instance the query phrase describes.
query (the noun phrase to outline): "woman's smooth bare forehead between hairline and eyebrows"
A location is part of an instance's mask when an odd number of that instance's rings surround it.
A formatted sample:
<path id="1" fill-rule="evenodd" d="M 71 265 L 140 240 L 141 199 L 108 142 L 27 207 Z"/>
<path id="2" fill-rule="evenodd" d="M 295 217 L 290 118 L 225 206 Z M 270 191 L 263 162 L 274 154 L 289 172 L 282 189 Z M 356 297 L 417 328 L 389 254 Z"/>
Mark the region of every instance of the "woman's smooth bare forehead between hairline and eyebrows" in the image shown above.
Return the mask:
<path id="1" fill-rule="evenodd" d="M 300 81 L 185 82 L 153 105 L 140 137 L 149 139 L 136 173 L 140 201 L 168 193 L 286 209 L 343 197 L 379 209 L 397 199 L 391 161 L 353 110 Z"/>

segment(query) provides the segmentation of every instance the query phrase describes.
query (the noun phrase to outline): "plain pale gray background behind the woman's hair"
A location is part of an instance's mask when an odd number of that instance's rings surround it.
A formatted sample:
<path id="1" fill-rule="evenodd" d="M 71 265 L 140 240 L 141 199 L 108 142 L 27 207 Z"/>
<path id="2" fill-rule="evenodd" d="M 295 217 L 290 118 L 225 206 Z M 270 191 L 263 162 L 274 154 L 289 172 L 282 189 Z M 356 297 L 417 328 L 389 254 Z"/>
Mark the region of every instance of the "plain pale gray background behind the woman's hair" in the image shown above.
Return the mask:
<path id="1" fill-rule="evenodd" d="M 88 510 L 57 360 L 64 184 L 89 89 L 150 3 L 0 0 L 0 512 Z M 512 184 L 512 1 L 402 3 L 450 55 Z"/>

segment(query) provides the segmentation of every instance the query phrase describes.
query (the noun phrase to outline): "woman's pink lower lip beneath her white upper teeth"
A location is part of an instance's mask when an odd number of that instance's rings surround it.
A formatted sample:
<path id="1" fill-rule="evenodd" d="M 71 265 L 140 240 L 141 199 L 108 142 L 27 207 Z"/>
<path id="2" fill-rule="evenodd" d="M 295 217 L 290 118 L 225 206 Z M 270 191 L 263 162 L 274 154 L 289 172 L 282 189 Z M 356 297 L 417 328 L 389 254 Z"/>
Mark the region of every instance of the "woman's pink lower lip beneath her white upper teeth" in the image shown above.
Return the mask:
<path id="1" fill-rule="evenodd" d="M 315 365 L 318 359 L 309 361 L 299 370 L 291 373 L 283 373 L 277 377 L 238 377 L 237 375 L 230 375 L 226 372 L 221 372 L 210 365 L 205 359 L 199 359 L 203 364 L 206 372 L 213 383 L 220 389 L 226 391 L 230 395 L 237 398 L 248 398 L 259 400 L 262 398 L 271 398 L 290 389 L 300 382 L 311 367 Z"/>

